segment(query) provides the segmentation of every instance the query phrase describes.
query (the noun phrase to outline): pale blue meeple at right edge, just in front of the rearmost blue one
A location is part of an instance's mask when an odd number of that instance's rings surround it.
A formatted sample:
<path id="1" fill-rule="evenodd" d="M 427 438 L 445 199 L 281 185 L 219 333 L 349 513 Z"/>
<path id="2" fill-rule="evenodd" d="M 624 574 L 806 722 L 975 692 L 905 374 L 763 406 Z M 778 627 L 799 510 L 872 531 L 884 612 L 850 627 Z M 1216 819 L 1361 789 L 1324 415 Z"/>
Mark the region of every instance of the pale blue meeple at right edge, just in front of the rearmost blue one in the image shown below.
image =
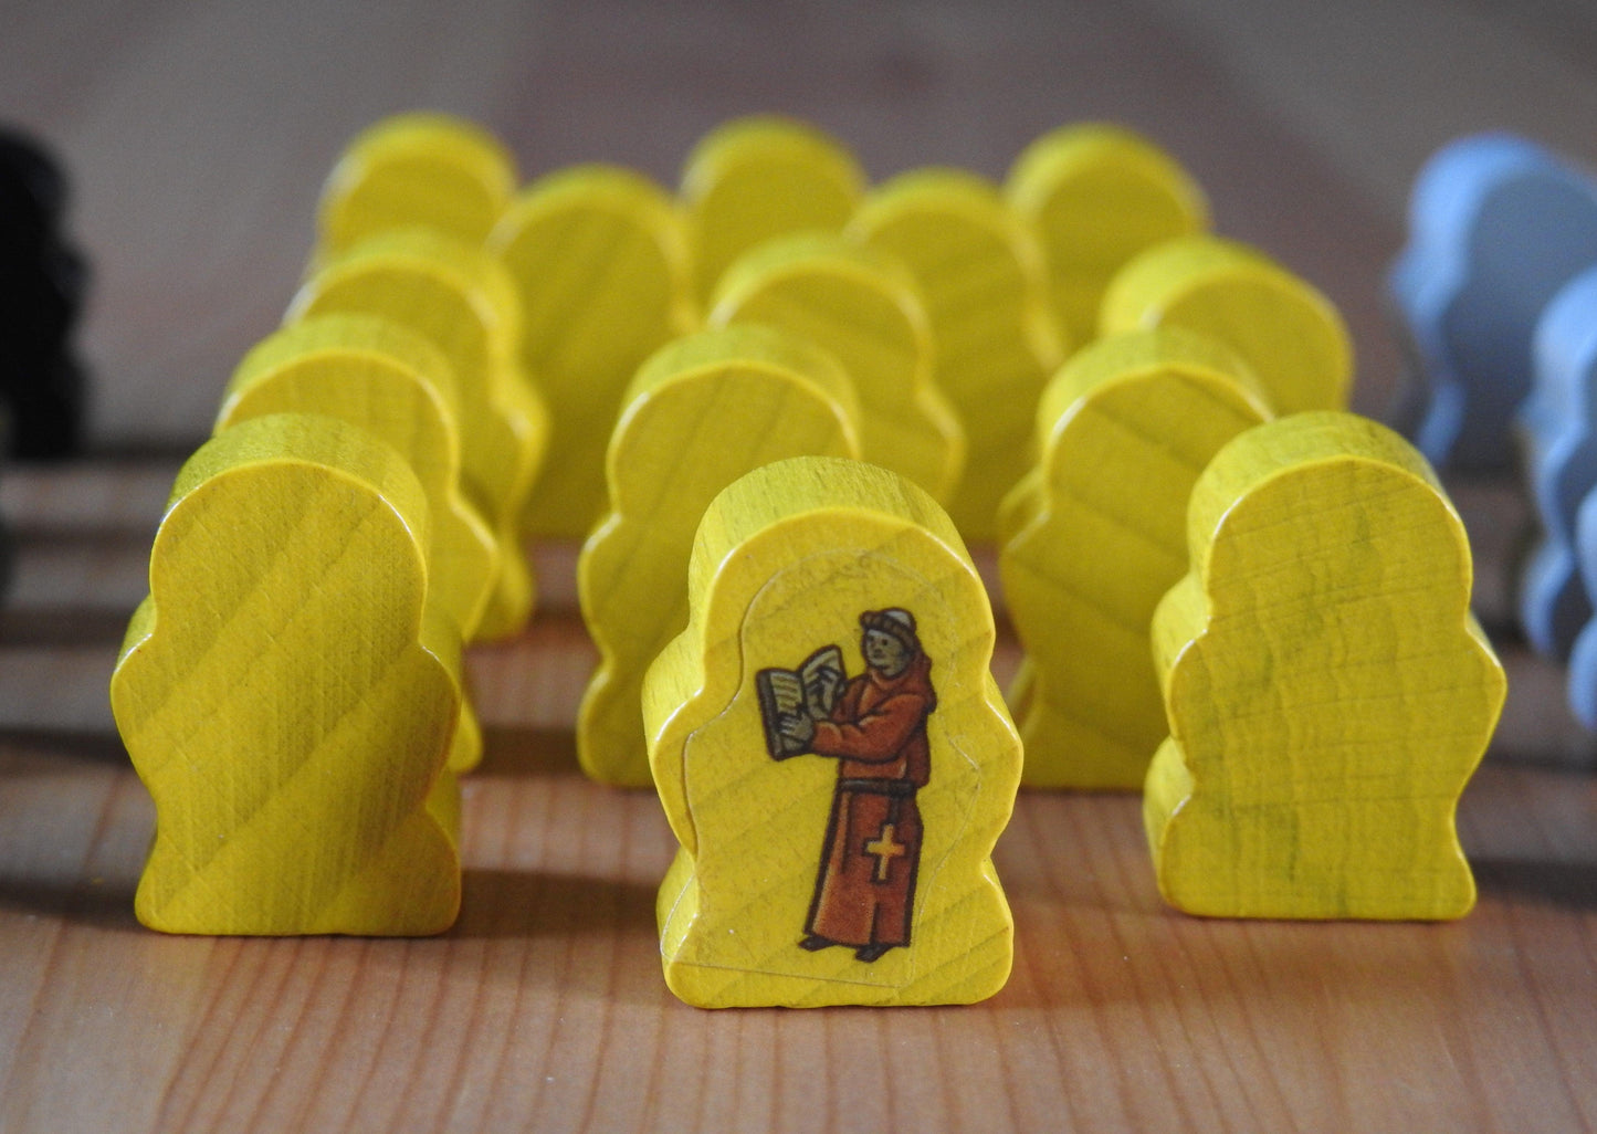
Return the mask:
<path id="1" fill-rule="evenodd" d="M 1520 423 L 1541 541 L 1520 577 L 1519 613 L 1532 645 L 1562 661 L 1592 617 L 1575 556 L 1575 519 L 1597 486 L 1597 265 L 1543 310 L 1532 364 Z"/>

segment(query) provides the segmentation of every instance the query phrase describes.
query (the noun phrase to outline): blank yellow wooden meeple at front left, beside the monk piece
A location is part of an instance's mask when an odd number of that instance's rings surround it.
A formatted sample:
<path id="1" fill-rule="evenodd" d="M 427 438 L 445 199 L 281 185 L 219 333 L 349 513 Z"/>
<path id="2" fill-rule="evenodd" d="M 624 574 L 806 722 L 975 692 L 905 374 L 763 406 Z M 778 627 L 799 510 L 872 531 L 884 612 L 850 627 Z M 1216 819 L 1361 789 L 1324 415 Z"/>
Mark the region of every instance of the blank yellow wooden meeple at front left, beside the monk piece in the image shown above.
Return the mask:
<path id="1" fill-rule="evenodd" d="M 110 700 L 155 799 L 139 920 L 168 933 L 441 933 L 460 634 L 426 497 L 343 422 L 243 422 L 184 465 Z"/>

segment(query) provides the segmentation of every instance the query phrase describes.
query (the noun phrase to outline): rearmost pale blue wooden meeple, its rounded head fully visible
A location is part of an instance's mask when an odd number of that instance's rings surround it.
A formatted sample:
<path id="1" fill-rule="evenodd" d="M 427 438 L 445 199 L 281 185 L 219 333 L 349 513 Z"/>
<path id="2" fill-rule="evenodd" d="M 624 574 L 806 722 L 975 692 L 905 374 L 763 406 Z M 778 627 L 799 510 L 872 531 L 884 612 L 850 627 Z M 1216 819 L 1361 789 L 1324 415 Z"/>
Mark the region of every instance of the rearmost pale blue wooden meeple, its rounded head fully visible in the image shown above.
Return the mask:
<path id="1" fill-rule="evenodd" d="M 1415 442 L 1437 468 L 1501 471 L 1552 294 L 1597 262 L 1597 182 L 1511 134 L 1444 145 L 1415 180 L 1388 291 L 1425 383 Z"/>

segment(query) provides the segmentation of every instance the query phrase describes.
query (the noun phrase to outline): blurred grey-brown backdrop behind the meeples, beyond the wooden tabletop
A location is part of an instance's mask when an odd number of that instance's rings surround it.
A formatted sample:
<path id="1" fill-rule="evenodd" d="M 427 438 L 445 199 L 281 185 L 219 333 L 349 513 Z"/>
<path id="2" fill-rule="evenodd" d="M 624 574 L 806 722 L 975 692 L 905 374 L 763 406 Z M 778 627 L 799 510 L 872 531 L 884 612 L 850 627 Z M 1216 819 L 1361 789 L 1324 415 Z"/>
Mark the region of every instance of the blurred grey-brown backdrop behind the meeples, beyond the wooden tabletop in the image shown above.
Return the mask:
<path id="1" fill-rule="evenodd" d="M 668 185 L 760 110 L 877 179 L 1001 177 L 1052 126 L 1119 121 L 1193 171 L 1219 232 L 1330 294 L 1354 406 L 1383 417 L 1402 363 L 1381 275 L 1420 163 L 1484 128 L 1597 158 L 1586 0 L 10 0 L 0 29 L 0 120 L 65 165 L 94 268 L 78 345 L 102 450 L 198 444 L 294 291 L 339 150 L 406 109 L 476 118 L 524 179 L 600 160 Z"/>

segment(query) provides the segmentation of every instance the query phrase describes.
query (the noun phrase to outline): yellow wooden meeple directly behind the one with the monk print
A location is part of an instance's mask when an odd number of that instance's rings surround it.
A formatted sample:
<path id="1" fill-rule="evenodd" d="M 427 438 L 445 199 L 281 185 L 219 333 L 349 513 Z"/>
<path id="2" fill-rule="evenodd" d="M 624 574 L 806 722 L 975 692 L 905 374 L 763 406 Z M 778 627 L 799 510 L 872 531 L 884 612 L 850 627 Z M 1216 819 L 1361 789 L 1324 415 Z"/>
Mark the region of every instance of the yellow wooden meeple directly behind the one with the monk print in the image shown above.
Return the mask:
<path id="1" fill-rule="evenodd" d="M 762 465 L 858 457 L 859 404 L 837 359 L 751 323 L 664 347 L 624 406 L 607 460 L 610 513 L 577 561 L 583 618 L 599 647 L 577 757 L 594 779 L 647 787 L 644 671 L 688 624 L 688 553 L 704 510 Z"/>

